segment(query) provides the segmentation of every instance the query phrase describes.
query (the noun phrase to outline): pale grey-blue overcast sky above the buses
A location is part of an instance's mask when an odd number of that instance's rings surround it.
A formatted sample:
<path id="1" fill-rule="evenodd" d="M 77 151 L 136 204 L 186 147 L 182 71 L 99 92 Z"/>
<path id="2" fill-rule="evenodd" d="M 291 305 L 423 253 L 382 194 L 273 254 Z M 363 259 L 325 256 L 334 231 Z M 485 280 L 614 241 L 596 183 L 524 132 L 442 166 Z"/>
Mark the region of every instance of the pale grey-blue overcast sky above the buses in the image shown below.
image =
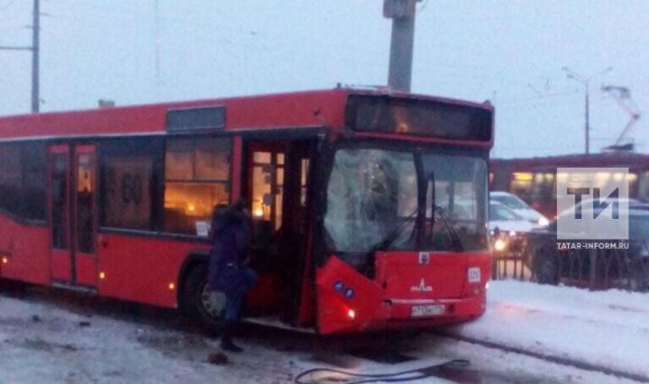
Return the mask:
<path id="1" fill-rule="evenodd" d="M 331 88 L 387 81 L 382 0 L 42 0 L 42 111 Z M 0 45 L 29 45 L 32 0 L 0 0 Z M 628 121 L 604 85 L 626 86 L 647 115 L 649 1 L 424 0 L 413 91 L 497 108 L 497 157 L 583 151 L 583 87 L 593 78 L 591 148 Z M 156 76 L 156 41 L 160 76 Z M 30 110 L 31 57 L 0 50 L 0 114 Z"/>

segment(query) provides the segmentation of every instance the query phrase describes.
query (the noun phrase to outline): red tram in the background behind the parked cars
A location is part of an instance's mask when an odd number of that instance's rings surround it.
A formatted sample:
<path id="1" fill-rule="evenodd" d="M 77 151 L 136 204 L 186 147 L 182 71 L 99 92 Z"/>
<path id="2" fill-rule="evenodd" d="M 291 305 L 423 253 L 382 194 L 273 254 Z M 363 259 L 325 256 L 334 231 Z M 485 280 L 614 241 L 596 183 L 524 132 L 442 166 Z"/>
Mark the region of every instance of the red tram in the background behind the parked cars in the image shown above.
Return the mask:
<path id="1" fill-rule="evenodd" d="M 489 187 L 522 198 L 546 217 L 556 216 L 557 168 L 628 168 L 629 197 L 649 201 L 649 155 L 611 151 L 490 161 Z M 600 172 L 602 182 L 622 175 Z"/>

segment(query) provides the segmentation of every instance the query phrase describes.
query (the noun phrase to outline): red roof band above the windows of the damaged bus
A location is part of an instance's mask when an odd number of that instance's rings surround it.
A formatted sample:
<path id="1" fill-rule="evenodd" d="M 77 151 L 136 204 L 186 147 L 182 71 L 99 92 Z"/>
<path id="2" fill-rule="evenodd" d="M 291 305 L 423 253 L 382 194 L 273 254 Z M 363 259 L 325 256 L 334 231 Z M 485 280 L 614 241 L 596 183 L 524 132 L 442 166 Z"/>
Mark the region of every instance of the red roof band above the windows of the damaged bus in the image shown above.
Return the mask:
<path id="1" fill-rule="evenodd" d="M 224 131 L 293 127 L 343 127 L 347 96 L 385 95 L 443 101 L 492 110 L 490 105 L 448 98 L 402 94 L 387 89 L 334 88 L 262 96 L 129 105 L 80 111 L 0 117 L 0 141 L 53 137 L 126 136 L 165 133 L 169 110 L 219 106 Z"/>

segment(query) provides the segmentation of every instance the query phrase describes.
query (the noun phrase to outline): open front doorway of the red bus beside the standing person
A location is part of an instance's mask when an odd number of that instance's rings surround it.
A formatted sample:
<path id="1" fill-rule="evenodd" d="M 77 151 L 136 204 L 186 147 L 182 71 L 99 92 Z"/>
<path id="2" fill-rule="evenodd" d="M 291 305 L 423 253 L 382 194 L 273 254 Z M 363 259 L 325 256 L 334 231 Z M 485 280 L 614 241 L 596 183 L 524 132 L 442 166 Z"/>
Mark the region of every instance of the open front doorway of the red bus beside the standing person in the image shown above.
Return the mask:
<path id="1" fill-rule="evenodd" d="M 248 302 L 297 323 L 309 257 L 307 181 L 315 139 L 253 140 L 246 149 L 242 196 L 251 204 L 251 267 L 260 275 Z"/>

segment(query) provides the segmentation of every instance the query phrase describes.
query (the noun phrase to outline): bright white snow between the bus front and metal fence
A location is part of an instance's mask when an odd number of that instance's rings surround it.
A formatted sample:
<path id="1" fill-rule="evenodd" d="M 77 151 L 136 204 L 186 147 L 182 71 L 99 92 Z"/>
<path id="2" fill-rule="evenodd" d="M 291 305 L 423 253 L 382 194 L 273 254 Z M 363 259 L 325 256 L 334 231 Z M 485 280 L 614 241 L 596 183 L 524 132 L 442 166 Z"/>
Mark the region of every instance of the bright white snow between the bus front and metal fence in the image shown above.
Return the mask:
<path id="1" fill-rule="evenodd" d="M 452 328 L 473 339 L 649 377 L 649 295 L 492 281 L 480 320 Z"/>

